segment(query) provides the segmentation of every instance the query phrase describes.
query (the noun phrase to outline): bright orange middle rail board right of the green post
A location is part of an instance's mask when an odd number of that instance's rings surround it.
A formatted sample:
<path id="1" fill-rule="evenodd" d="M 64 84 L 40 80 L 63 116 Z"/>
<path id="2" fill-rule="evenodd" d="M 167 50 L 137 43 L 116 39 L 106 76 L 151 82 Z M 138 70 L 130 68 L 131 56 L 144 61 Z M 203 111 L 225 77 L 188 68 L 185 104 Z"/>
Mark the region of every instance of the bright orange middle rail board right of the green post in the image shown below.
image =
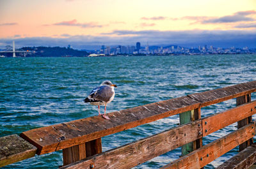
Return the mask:
<path id="1" fill-rule="evenodd" d="M 224 128 L 234 122 L 241 121 L 246 117 L 256 114 L 256 101 L 246 103 L 235 108 L 220 112 L 203 119 L 203 136 L 207 136 L 214 131 Z"/>

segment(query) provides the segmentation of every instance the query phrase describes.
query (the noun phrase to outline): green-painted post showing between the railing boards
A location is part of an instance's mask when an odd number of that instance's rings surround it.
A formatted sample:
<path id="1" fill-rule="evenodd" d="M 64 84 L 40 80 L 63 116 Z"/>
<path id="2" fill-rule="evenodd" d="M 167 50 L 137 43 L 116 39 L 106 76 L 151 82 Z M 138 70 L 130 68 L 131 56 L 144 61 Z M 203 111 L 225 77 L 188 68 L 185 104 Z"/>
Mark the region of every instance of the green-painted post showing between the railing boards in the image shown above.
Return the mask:
<path id="1" fill-rule="evenodd" d="M 179 114 L 180 116 L 180 125 L 191 122 L 192 117 L 194 116 L 194 110 L 183 112 Z M 182 145 L 181 147 L 181 156 L 186 156 L 189 152 L 193 151 L 193 142 Z"/>

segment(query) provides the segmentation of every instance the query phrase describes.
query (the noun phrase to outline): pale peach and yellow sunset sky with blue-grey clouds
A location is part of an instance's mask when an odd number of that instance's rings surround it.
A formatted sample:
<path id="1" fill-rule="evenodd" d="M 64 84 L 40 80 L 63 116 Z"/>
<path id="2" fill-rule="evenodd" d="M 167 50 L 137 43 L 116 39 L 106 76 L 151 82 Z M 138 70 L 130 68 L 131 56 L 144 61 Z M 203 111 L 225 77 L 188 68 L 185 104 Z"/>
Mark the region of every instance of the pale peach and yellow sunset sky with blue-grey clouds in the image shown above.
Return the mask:
<path id="1" fill-rule="evenodd" d="M 256 48 L 255 0 L 0 0 L 0 48 Z"/>

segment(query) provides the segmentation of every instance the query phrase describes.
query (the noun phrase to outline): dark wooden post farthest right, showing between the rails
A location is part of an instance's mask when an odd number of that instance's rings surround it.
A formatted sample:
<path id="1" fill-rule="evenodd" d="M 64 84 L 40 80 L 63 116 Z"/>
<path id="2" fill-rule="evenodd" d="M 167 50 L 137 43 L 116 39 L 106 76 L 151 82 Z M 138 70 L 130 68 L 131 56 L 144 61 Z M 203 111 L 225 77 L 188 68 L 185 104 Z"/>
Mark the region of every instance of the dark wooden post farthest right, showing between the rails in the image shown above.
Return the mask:
<path id="1" fill-rule="evenodd" d="M 251 94 L 246 94 L 244 96 L 240 96 L 238 98 L 236 98 L 236 106 L 239 105 L 243 105 L 244 103 L 248 103 L 251 101 Z M 243 112 L 241 112 L 243 113 Z M 242 128 L 243 126 L 246 126 L 247 124 L 249 124 L 250 122 L 252 122 L 252 116 L 247 117 L 241 121 L 237 121 L 237 128 Z M 246 147 L 248 147 L 249 145 L 251 145 L 253 143 L 253 138 L 251 138 L 250 140 L 247 140 L 244 143 L 241 143 L 239 145 L 239 151 L 243 151 L 243 149 L 245 149 Z"/>

